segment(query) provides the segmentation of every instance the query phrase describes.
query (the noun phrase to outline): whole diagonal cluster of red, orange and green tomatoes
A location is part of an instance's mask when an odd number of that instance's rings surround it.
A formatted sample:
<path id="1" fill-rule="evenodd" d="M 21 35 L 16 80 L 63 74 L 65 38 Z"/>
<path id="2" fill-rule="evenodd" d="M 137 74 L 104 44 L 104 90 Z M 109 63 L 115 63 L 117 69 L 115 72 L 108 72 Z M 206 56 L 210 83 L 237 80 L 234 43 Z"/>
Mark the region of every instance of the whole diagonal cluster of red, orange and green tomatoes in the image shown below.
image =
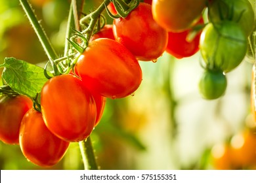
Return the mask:
<path id="1" fill-rule="evenodd" d="M 32 101 L 21 95 L 2 96 L 0 114 L 8 118 L 0 122 L 1 141 L 20 144 L 24 156 L 37 165 L 49 167 L 58 163 L 70 142 L 83 141 L 91 135 L 106 98 L 127 97 L 139 88 L 139 61 L 156 61 L 165 51 L 184 58 L 201 48 L 206 63 L 201 92 L 207 99 L 219 97 L 226 88 L 223 72 L 234 69 L 246 52 L 251 28 L 243 23 L 244 19 L 254 17 L 245 7 L 247 0 L 239 2 L 139 3 L 127 17 L 115 18 L 112 25 L 105 25 L 91 37 L 70 74 L 53 76 L 45 83 L 37 98 L 40 105 L 33 108 Z M 195 31 L 195 27 L 204 25 L 202 11 L 207 3 L 210 23 L 203 31 Z M 219 3 L 224 3 L 223 10 Z M 117 14 L 113 3 L 108 10 Z"/>

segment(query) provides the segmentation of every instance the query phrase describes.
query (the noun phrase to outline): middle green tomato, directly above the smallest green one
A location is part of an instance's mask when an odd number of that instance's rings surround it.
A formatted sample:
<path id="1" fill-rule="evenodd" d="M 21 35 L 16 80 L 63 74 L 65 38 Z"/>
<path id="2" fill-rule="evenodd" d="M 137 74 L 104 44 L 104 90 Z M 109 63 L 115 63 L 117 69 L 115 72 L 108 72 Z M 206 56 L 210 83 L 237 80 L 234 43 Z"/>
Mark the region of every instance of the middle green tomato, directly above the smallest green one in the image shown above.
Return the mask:
<path id="1" fill-rule="evenodd" d="M 228 73 L 244 59 L 247 37 L 242 28 L 231 21 L 207 24 L 200 37 L 200 52 L 207 67 Z"/>

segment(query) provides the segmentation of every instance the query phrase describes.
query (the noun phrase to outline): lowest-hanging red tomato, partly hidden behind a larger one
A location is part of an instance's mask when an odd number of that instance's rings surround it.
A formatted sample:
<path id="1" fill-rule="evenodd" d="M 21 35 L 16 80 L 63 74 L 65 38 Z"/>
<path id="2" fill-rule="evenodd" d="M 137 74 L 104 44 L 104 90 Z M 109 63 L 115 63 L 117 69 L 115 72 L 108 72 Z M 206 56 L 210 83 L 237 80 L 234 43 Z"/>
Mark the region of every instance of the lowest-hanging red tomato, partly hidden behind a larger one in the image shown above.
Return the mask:
<path id="1" fill-rule="evenodd" d="M 20 148 L 29 161 L 51 167 L 62 159 L 69 144 L 49 131 L 41 112 L 28 110 L 20 124 Z"/>

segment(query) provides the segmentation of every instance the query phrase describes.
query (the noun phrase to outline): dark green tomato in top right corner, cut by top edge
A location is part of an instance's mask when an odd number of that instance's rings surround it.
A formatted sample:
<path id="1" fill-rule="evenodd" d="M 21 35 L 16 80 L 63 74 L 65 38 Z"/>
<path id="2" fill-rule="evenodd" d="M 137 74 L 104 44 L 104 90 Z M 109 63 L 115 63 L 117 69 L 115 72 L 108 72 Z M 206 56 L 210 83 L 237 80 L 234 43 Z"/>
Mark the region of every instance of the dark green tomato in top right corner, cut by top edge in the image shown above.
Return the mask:
<path id="1" fill-rule="evenodd" d="M 230 20 L 236 22 L 249 36 L 253 29 L 254 12 L 248 0 L 215 0 L 209 3 L 210 22 Z"/>

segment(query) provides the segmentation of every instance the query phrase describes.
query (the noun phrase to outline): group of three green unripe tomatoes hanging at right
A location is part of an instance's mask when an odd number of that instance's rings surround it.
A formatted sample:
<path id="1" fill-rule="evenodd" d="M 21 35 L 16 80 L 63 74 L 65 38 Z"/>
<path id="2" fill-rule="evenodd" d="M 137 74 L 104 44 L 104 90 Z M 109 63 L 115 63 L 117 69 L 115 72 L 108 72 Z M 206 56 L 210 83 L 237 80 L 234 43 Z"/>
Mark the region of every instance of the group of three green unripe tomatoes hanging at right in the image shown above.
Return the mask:
<path id="1" fill-rule="evenodd" d="M 226 90 L 226 73 L 235 69 L 247 52 L 247 37 L 254 26 L 254 12 L 247 0 L 213 0 L 208 5 L 209 24 L 203 28 L 200 51 L 205 73 L 200 92 L 216 99 Z"/>

